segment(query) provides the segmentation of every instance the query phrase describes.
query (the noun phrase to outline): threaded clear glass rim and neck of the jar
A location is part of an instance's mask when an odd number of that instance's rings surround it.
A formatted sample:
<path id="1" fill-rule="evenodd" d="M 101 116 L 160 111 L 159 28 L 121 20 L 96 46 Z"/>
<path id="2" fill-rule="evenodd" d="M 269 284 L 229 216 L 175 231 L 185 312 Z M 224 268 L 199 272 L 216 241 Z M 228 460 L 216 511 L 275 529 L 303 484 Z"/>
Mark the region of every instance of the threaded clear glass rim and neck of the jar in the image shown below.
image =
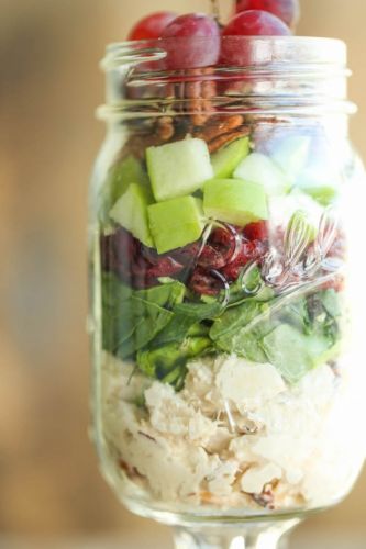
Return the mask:
<path id="1" fill-rule="evenodd" d="M 176 108 L 187 111 L 191 107 L 190 91 L 201 85 L 207 89 L 217 87 L 217 94 L 210 100 L 197 98 L 203 110 L 214 105 L 221 112 L 230 105 L 232 110 L 259 110 L 267 114 L 355 112 L 355 105 L 346 99 L 351 71 L 342 40 L 224 36 L 229 60 L 218 54 L 219 60 L 210 66 L 169 67 L 169 55 L 176 47 L 189 53 L 195 52 L 196 44 L 201 52 L 202 44 L 209 48 L 210 41 L 173 37 L 108 45 L 101 63 L 107 74 L 107 105 L 98 110 L 98 116 L 111 120 L 122 113 L 125 117 L 164 115 L 173 105 L 174 113 Z M 195 57 L 187 54 L 187 58 Z"/>

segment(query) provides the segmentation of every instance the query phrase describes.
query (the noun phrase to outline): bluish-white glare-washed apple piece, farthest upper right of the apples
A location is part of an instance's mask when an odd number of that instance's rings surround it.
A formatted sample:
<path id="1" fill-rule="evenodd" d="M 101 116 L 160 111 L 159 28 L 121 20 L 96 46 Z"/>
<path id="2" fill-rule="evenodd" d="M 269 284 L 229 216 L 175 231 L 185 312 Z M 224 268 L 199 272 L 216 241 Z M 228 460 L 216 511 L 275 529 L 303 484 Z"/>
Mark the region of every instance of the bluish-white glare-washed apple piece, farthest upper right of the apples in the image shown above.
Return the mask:
<path id="1" fill-rule="evenodd" d="M 309 150 L 310 137 L 298 135 L 282 139 L 270 156 L 288 176 L 290 182 L 295 183 L 306 166 Z"/>

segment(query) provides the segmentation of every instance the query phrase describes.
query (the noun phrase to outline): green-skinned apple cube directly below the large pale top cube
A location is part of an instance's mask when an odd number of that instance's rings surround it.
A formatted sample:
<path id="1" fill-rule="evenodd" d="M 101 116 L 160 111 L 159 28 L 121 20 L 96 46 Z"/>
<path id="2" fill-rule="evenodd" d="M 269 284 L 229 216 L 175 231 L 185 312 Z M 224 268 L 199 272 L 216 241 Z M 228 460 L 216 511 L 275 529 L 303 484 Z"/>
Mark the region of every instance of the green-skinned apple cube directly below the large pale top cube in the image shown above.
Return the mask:
<path id="1" fill-rule="evenodd" d="M 200 238 L 203 228 L 202 201 L 182 197 L 152 204 L 149 228 L 159 254 L 180 248 Z"/>

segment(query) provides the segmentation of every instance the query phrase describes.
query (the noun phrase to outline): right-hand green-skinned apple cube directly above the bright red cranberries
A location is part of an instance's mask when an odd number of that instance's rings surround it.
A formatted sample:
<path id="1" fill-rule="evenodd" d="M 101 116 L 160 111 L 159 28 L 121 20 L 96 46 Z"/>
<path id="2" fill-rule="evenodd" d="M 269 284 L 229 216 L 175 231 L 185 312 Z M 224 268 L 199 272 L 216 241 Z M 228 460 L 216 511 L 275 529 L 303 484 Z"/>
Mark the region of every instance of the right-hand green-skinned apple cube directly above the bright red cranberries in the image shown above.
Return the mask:
<path id="1" fill-rule="evenodd" d="M 268 219 L 262 184 L 242 179 L 212 179 L 204 184 L 203 211 L 208 217 L 244 227 Z"/>

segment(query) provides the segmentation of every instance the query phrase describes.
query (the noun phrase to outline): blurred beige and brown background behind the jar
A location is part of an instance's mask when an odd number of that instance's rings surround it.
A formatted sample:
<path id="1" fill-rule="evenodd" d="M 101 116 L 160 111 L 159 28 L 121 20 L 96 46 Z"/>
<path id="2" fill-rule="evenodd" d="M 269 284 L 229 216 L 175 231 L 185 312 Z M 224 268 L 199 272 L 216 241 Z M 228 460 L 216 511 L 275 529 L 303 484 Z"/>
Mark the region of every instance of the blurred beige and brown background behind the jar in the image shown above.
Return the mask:
<path id="1" fill-rule="evenodd" d="M 100 537 L 108 533 L 127 549 L 151 547 L 151 531 L 159 548 L 168 539 L 163 527 L 138 528 L 120 507 L 87 437 L 87 184 L 103 137 L 93 110 L 102 101 L 104 44 L 123 40 L 153 7 L 208 4 L 0 0 L 0 547 L 29 548 L 46 537 L 48 548 L 53 538 L 80 536 L 75 547 L 106 549 Z M 302 0 L 302 12 L 300 34 L 350 45 L 351 97 L 361 108 L 352 134 L 366 157 L 366 1 Z M 366 547 L 365 509 L 366 474 L 343 505 L 301 527 L 293 547 L 324 533 L 345 540 L 353 533 L 359 545 L 340 547 Z M 133 546 L 137 530 L 145 537 Z M 301 547 L 328 547 L 324 539 Z"/>

